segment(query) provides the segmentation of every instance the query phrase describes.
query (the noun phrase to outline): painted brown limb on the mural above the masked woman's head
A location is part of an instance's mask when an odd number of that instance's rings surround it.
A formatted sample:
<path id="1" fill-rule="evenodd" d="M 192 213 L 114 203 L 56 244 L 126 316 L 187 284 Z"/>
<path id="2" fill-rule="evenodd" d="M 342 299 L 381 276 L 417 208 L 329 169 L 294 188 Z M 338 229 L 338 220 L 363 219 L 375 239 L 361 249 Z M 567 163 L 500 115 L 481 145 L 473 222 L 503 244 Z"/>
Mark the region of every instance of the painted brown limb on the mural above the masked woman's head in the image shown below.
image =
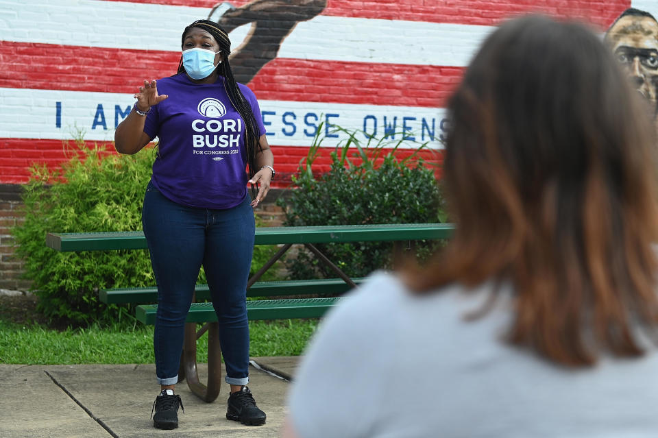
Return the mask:
<path id="1" fill-rule="evenodd" d="M 247 84 L 276 58 L 281 43 L 295 25 L 313 19 L 326 5 L 327 0 L 254 0 L 239 8 L 219 3 L 208 19 L 216 21 L 227 33 L 252 23 L 247 38 L 229 58 L 236 81 Z"/>

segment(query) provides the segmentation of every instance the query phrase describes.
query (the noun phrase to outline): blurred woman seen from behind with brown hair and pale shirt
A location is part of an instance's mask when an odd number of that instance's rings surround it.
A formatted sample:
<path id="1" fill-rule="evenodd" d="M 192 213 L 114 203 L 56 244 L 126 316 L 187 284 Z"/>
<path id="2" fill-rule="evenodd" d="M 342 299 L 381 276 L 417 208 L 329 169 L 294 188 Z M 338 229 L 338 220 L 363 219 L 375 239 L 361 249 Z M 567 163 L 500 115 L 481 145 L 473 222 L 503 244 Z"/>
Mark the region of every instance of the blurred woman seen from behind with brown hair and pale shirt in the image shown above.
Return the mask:
<path id="1" fill-rule="evenodd" d="M 326 318 L 287 434 L 655 436 L 658 171 L 637 93 L 588 29 L 529 16 L 489 36 L 448 110 L 454 237 Z"/>

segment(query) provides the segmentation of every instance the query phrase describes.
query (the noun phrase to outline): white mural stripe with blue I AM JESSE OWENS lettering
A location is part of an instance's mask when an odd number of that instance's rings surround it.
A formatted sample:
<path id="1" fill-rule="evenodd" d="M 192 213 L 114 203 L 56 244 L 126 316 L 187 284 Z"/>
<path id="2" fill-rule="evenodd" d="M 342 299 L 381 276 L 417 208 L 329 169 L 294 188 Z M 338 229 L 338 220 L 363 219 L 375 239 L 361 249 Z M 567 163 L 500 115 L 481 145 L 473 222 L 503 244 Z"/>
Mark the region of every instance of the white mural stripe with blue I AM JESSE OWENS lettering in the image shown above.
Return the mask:
<path id="1" fill-rule="evenodd" d="M 134 99 L 119 93 L 0 88 L 0 136 L 8 138 L 112 141 L 114 128 L 127 116 Z M 347 130 L 365 130 L 378 138 L 400 140 L 402 133 L 418 143 L 440 148 L 446 130 L 445 110 L 409 106 L 326 104 L 262 100 L 260 110 L 271 145 L 310 146 L 320 122 Z M 329 134 L 332 147 L 347 134 Z M 359 134 L 365 141 L 365 134 Z M 413 147 L 409 143 L 406 147 Z"/>

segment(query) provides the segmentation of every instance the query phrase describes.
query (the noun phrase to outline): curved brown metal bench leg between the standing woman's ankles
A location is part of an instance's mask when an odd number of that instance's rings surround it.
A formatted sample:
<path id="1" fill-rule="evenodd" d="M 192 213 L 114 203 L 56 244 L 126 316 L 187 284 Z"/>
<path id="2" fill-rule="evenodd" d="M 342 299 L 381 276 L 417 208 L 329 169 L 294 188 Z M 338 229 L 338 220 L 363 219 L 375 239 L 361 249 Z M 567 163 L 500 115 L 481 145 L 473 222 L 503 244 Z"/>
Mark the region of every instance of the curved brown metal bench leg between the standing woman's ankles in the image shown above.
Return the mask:
<path id="1" fill-rule="evenodd" d="M 219 349 L 219 326 L 212 322 L 208 327 L 208 385 L 199 382 L 197 372 L 197 324 L 185 324 L 185 342 L 181 357 L 181 368 L 190 387 L 204 402 L 214 402 L 221 386 L 221 350 Z"/>

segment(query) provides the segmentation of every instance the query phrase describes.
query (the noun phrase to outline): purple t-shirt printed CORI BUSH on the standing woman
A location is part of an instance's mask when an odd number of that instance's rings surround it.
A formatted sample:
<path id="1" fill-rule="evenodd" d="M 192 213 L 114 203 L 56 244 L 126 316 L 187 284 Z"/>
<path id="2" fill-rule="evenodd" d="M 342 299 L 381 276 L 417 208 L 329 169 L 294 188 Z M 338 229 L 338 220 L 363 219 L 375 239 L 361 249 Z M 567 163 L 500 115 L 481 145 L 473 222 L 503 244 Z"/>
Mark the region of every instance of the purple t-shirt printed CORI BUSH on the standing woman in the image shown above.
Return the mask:
<path id="1" fill-rule="evenodd" d="M 260 133 L 265 126 L 256 96 L 238 84 Z M 167 99 L 151 108 L 144 132 L 160 138 L 151 181 L 173 202 L 199 208 L 232 208 L 247 196 L 245 123 L 233 108 L 223 77 L 195 84 L 185 73 L 158 80 Z"/>

